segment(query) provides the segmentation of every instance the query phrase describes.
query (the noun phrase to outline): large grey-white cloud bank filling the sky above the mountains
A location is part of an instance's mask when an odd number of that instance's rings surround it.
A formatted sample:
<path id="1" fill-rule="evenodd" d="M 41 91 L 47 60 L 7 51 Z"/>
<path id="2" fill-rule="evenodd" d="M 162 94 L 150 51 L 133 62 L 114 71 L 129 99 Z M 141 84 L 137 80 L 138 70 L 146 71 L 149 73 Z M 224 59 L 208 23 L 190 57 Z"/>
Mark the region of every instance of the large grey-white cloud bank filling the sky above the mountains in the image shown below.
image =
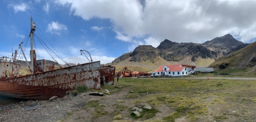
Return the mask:
<path id="1" fill-rule="evenodd" d="M 156 43 L 153 38 L 157 38 L 158 42 L 168 39 L 202 43 L 228 33 L 242 42 L 255 38 L 256 1 L 58 0 L 56 3 L 68 4 L 71 13 L 84 20 L 108 19 L 113 23 L 116 37 L 126 42 L 145 38 L 144 43 Z"/>

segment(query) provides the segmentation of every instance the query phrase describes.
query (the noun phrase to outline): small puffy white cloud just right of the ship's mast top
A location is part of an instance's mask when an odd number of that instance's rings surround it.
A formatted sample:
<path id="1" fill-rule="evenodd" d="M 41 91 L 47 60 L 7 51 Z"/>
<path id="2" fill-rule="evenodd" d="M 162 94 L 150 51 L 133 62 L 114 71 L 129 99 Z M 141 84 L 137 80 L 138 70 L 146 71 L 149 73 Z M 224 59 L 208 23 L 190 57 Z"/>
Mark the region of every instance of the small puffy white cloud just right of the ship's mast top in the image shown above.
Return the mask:
<path id="1" fill-rule="evenodd" d="M 65 24 L 60 24 L 58 22 L 51 22 L 50 24 L 48 24 L 46 31 L 52 34 L 61 35 L 62 32 L 68 31 L 68 29 Z"/>

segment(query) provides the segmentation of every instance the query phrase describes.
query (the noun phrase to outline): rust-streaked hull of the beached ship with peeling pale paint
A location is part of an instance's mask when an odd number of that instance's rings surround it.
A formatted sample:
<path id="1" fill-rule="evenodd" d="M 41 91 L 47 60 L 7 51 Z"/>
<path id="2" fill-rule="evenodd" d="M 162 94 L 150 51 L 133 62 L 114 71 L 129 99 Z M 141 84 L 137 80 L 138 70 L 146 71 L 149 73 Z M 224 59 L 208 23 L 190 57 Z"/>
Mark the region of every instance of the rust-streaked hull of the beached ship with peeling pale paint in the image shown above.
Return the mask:
<path id="1" fill-rule="evenodd" d="M 18 99 L 64 97 L 77 86 L 100 89 L 100 61 L 0 80 L 0 95 Z"/>

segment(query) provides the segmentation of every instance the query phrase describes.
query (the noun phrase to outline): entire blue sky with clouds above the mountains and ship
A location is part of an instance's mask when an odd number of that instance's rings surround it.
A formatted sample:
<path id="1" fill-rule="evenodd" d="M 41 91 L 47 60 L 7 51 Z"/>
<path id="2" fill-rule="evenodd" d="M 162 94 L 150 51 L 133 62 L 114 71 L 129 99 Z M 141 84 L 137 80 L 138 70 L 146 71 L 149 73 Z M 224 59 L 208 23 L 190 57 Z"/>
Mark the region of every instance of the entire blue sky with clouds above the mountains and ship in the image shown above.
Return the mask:
<path id="1" fill-rule="evenodd" d="M 256 38 L 255 5 L 256 1 L 224 0 L 1 0 L 0 54 L 19 49 L 31 16 L 35 34 L 44 34 L 70 63 L 88 62 L 81 49 L 105 64 L 142 44 L 157 47 L 164 39 L 203 43 L 231 34 L 251 43 Z M 39 57 L 51 60 L 40 43 L 36 50 Z"/>

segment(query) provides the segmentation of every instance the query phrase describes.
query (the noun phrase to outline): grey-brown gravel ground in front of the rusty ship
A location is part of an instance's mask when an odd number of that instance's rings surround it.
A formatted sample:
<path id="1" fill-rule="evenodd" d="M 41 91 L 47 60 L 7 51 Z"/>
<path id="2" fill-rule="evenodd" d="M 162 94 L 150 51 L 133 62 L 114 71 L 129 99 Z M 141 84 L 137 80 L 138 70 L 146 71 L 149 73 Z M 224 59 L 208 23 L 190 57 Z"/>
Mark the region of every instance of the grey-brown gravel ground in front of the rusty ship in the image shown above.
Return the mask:
<path id="1" fill-rule="evenodd" d="M 120 92 L 111 95 L 95 96 L 89 95 L 90 92 L 78 95 L 69 94 L 63 98 L 49 100 L 29 100 L 21 101 L 16 104 L 0 105 L 0 121 L 113 121 L 114 115 L 93 118 L 95 110 L 83 110 L 83 107 L 91 100 L 99 100 L 104 104 L 105 110 L 109 113 L 114 112 L 112 107 L 117 99 L 123 99 L 129 89 L 121 89 Z M 124 104 L 130 105 L 130 100 Z M 132 106 L 132 105 L 131 105 Z M 69 113 L 72 113 L 69 115 Z"/>

